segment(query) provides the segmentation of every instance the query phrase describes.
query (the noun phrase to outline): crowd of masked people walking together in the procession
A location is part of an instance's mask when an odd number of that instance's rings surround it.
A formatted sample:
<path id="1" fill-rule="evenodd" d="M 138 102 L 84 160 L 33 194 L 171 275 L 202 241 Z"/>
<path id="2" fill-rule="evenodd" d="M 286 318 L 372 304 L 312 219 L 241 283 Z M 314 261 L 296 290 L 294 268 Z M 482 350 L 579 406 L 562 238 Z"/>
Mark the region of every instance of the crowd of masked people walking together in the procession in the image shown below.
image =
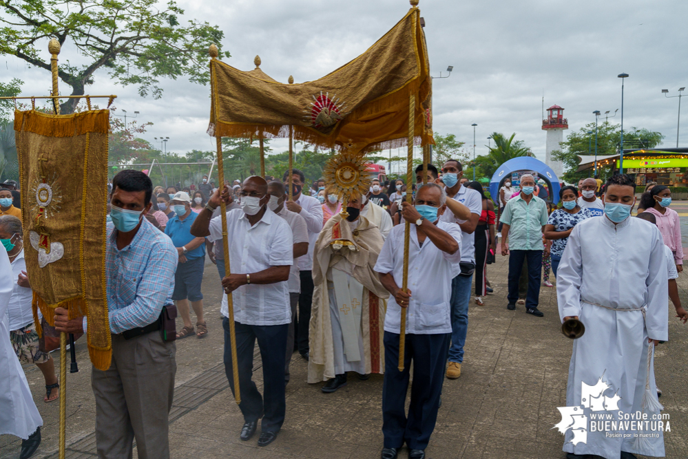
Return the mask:
<path id="1" fill-rule="evenodd" d="M 321 384 L 325 393 L 346 386 L 348 374 L 362 380 L 384 374 L 381 457 L 396 458 L 405 443 L 410 458 L 424 458 L 444 379 L 461 376 L 469 304 L 484 306 L 484 297 L 493 292 L 487 266 L 498 250 L 509 256 L 508 310 L 521 304 L 526 313 L 543 317 L 539 292 L 541 282 L 553 285 L 551 268 L 561 320 L 585 322 L 587 338 L 574 343 L 567 403 L 574 403 L 569 396 L 580 399 L 581 381 L 594 383 L 605 369 L 621 391 L 624 411 L 640 409 L 643 391 L 636 385 L 645 389 L 646 379 L 660 392 L 651 366 L 643 372 L 640 363 L 649 345 L 668 339 L 667 297 L 676 316 L 688 321 L 676 287 L 683 258 L 680 224 L 669 208 L 666 186 L 645 191 L 639 204 L 643 212 L 636 218 L 630 217 L 635 184 L 625 175 L 615 175 L 605 186 L 598 179 L 563 186 L 557 208 L 548 202 L 544 182 L 530 174 L 520 177 L 519 186 L 506 180 L 493 201 L 479 182 L 463 178 L 458 160 L 439 169 L 417 167 L 412 184 L 373 178 L 366 195 L 346 201 L 333 184 L 320 179 L 307 188 L 304 173 L 292 172 L 281 180 L 252 176 L 222 189 L 207 175 L 182 189 L 154 187 L 145 173 L 134 170 L 114 177 L 105 260 L 112 365 L 92 370 L 99 457 L 129 457 L 134 440 L 140 458 L 169 457 L 174 341 L 219 332 L 209 329 L 204 316 L 206 257 L 218 269 L 213 282 L 224 291 L 223 360 L 233 393 L 235 358 L 238 367 L 244 417 L 238 434 L 248 441 L 260 427 L 259 446 L 271 444 L 284 423 L 289 365 L 298 351 L 307 361 L 308 382 Z M 41 441 L 42 420 L 19 362 L 35 363 L 43 372 L 46 403 L 60 393 L 50 352 L 34 328 L 17 188 L 6 182 L 0 189 L 0 239 L 7 253 L 0 250 L 0 275 L 13 279 L 0 283 L 0 316 L 6 318 L 0 359 L 17 370 L 7 387 L 3 383 L 6 395 L 0 396 L 0 402 L 8 396 L 12 400 L 14 418 L 6 421 L 11 428 L 4 421 L 0 425 L 23 438 L 25 459 Z M 406 200 L 408 193 L 413 204 Z M 408 288 L 403 285 L 405 222 L 410 224 Z M 638 241 L 646 244 L 638 248 Z M 226 270 L 228 263 L 231 270 Z M 163 316 L 174 310 L 182 328 L 173 337 L 163 333 Z M 616 320 L 625 319 L 612 314 L 620 310 L 629 311 L 620 315 L 627 315 L 634 327 L 616 330 Z M 399 359 L 402 316 L 406 338 Z M 45 319 L 41 322 L 48 328 Z M 84 329 L 84 318 L 70 319 L 63 308 L 55 310 L 56 332 L 83 334 Z M 608 340 L 602 341 L 610 334 L 616 344 L 600 355 L 596 349 L 608 348 Z M 256 341 L 262 394 L 252 374 Z M 612 444 L 603 436 L 588 438 L 587 445 L 567 442 L 567 457 L 663 453 L 662 438 L 643 448 Z"/>

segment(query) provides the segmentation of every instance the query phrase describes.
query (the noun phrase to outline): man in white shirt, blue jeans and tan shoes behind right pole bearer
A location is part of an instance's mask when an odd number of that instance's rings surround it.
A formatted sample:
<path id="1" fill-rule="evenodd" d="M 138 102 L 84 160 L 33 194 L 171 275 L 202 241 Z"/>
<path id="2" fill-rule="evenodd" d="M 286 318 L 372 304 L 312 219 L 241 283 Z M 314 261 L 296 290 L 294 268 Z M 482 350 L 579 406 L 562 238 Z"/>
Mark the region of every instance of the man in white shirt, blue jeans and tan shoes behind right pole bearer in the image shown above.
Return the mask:
<path id="1" fill-rule="evenodd" d="M 434 169 L 434 167 L 433 167 Z M 435 169 L 437 171 L 437 169 Z M 437 174 L 435 172 L 435 174 Z M 461 273 L 457 273 L 452 279 L 452 343 L 449 348 L 447 365 L 447 378 L 456 379 L 461 376 L 461 363 L 463 362 L 463 345 L 466 343 L 468 332 L 468 303 L 470 302 L 470 284 L 475 270 L 475 227 L 483 211 L 483 200 L 480 193 L 474 189 L 460 184 L 463 176 L 463 167 L 457 160 L 448 160 L 442 166 L 442 182 L 448 200 L 459 202 L 468 208 L 470 214 L 456 212 L 449 208 L 442 214 L 440 220 L 446 223 L 458 224 L 461 228 Z M 465 209 L 464 209 L 465 211 Z"/>

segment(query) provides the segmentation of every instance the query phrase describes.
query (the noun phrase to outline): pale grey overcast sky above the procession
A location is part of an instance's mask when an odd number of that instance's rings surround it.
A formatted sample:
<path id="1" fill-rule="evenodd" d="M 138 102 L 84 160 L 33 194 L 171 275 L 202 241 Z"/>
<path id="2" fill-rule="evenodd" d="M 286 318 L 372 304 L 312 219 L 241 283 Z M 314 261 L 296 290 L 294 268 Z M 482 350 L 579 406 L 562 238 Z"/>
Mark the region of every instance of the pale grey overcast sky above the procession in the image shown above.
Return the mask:
<path id="1" fill-rule="evenodd" d="M 230 0 L 179 1 L 186 18 L 217 24 L 230 65 L 261 68 L 278 81 L 311 81 L 364 52 L 408 11 L 406 0 Z M 472 145 L 477 123 L 477 154 L 486 153 L 494 131 L 524 140 L 544 160 L 545 109 L 564 107 L 570 131 L 594 121 L 592 111 L 621 109 L 625 72 L 624 126 L 660 131 L 665 147 L 676 147 L 678 88 L 688 86 L 688 1 L 685 0 L 421 0 L 435 79 L 435 131 L 455 134 Z M 184 18 L 180 18 L 184 19 Z M 47 47 L 47 45 L 44 45 Z M 47 52 L 46 52 L 47 53 Z M 79 60 L 66 43 L 61 60 Z M 0 81 L 25 81 L 23 93 L 48 92 L 50 74 L 26 70 L 6 57 Z M 154 122 L 147 140 L 169 136 L 168 151 L 214 149 L 205 134 L 209 87 L 185 78 L 162 82 L 160 100 L 140 98 L 134 87 L 117 87 L 98 72 L 91 94 L 118 94 L 116 106 Z M 67 93 L 61 84 L 61 92 Z M 688 100 L 679 145 L 688 147 Z M 121 111 L 118 110 L 118 113 Z M 619 110 L 616 120 L 620 120 Z M 286 142 L 274 141 L 281 151 Z"/>

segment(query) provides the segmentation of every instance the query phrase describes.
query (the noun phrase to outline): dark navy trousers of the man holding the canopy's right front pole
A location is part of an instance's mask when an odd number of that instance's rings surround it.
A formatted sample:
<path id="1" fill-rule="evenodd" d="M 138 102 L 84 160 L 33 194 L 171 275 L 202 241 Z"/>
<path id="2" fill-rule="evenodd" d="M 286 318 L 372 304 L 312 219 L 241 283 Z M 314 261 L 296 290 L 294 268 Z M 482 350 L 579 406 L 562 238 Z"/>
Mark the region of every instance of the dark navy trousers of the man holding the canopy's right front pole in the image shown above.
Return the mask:
<path id="1" fill-rule="evenodd" d="M 449 333 L 407 334 L 404 371 L 399 372 L 399 334 L 384 332 L 382 434 L 384 447 L 426 449 L 437 422 L 444 382 Z M 404 405 L 413 360 L 413 385 L 408 417 Z"/>

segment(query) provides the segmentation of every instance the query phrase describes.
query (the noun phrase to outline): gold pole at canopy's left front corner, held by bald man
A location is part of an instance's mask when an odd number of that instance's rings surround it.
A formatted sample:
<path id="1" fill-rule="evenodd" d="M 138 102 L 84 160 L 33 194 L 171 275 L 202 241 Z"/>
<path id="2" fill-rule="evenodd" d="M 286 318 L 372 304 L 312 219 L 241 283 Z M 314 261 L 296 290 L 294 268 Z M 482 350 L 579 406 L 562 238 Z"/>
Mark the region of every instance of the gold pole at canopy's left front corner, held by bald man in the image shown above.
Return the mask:
<path id="1" fill-rule="evenodd" d="M 210 57 L 215 61 L 218 57 L 218 47 L 213 43 L 210 45 Z M 210 67 L 211 82 L 213 77 L 213 67 Z M 211 90 L 215 88 L 212 87 Z M 215 136 L 216 147 L 218 149 L 218 181 L 220 182 L 220 222 L 222 222 L 222 253 L 225 255 L 225 277 L 231 275 L 231 267 L 229 266 L 229 242 L 227 241 L 227 206 L 225 200 L 222 200 L 222 192 L 225 191 L 225 164 L 222 161 L 222 137 Z M 210 180 L 210 178 L 208 178 Z M 239 391 L 239 364 L 236 357 L 236 332 L 234 330 L 234 301 L 232 294 L 227 295 L 227 309 L 229 310 L 227 317 L 229 317 L 229 341 L 231 346 L 231 371 L 234 376 L 234 400 L 237 405 L 241 403 L 241 394 Z"/>

